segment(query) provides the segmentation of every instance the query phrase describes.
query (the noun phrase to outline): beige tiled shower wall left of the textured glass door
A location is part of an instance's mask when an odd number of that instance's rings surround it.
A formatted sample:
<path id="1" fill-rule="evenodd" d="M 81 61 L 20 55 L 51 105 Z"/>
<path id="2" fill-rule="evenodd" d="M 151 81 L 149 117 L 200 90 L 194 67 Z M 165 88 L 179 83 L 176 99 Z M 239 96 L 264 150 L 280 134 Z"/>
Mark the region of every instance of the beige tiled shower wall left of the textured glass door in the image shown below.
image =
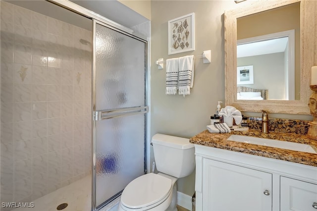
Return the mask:
<path id="1" fill-rule="evenodd" d="M 91 32 L 1 3 L 1 202 L 91 173 Z"/>

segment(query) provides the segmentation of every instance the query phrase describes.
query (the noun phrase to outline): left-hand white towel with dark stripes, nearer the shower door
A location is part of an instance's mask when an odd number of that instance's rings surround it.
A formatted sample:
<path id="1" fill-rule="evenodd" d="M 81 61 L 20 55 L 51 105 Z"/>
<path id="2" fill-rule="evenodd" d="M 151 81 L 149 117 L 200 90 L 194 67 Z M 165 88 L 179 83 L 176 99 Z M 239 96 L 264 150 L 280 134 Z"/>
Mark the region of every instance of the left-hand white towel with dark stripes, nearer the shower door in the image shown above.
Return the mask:
<path id="1" fill-rule="evenodd" d="M 178 85 L 178 58 L 166 59 L 166 95 L 176 95 Z"/>

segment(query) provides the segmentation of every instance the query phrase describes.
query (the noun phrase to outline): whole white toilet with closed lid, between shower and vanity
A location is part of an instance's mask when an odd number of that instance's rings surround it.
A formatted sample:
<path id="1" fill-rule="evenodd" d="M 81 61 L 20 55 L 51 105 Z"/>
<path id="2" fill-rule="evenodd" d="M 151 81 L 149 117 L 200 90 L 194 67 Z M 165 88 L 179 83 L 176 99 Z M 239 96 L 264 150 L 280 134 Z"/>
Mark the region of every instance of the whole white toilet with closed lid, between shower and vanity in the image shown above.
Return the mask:
<path id="1" fill-rule="evenodd" d="M 119 211 L 177 211 L 176 181 L 195 169 L 194 144 L 164 134 L 155 134 L 152 144 L 159 173 L 131 181 L 121 194 Z"/>

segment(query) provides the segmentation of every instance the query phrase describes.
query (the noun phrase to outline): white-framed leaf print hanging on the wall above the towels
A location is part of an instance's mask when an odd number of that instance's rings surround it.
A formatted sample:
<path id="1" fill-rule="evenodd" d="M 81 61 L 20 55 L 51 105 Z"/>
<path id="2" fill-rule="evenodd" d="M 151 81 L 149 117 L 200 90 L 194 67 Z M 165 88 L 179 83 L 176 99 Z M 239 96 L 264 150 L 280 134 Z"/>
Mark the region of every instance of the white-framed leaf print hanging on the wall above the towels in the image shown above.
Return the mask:
<path id="1" fill-rule="evenodd" d="M 168 21 L 168 54 L 195 50 L 194 12 Z"/>

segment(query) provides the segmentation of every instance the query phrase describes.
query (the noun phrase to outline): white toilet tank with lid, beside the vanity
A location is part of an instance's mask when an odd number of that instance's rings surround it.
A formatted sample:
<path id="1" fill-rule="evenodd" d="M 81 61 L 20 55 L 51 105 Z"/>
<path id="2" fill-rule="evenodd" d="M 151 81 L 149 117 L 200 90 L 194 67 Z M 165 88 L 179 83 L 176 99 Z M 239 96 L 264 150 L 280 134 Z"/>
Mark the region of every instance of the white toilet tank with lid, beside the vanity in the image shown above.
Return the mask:
<path id="1" fill-rule="evenodd" d="M 181 178 L 195 169 L 195 148 L 189 139 L 158 133 L 152 137 L 152 143 L 159 172 Z"/>

